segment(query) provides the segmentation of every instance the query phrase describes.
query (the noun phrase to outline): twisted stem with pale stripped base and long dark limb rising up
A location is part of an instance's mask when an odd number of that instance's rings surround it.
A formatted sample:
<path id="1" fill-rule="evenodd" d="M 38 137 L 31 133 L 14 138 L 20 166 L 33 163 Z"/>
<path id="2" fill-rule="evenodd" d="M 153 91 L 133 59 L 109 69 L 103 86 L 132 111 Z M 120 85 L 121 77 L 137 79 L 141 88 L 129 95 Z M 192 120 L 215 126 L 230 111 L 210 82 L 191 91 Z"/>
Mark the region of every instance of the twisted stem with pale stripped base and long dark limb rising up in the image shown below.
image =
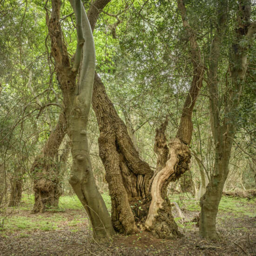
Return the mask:
<path id="1" fill-rule="evenodd" d="M 157 233 L 160 237 L 175 237 L 178 234 L 178 229 L 174 226 L 174 220 L 172 223 L 167 222 L 168 212 L 163 209 L 168 208 L 166 205 L 170 205 L 166 189 L 170 181 L 175 181 L 179 177 L 189 170 L 190 151 L 188 145 L 190 144 L 193 124 L 192 124 L 192 112 L 195 106 L 197 96 L 202 87 L 202 78 L 204 74 L 203 62 L 201 60 L 201 51 L 195 40 L 195 34 L 186 18 L 186 8 L 182 0 L 177 0 L 178 8 L 181 12 L 183 27 L 186 29 L 186 33 L 189 36 L 189 43 L 191 49 L 191 59 L 193 62 L 193 79 L 190 85 L 189 94 L 182 109 L 182 115 L 180 125 L 174 139 L 171 139 L 168 143 L 169 156 L 168 161 L 164 168 L 155 176 L 152 187 L 151 196 L 152 201 L 148 211 L 148 217 L 145 222 L 145 226 L 153 233 Z M 176 224 L 175 224 L 176 225 Z"/>

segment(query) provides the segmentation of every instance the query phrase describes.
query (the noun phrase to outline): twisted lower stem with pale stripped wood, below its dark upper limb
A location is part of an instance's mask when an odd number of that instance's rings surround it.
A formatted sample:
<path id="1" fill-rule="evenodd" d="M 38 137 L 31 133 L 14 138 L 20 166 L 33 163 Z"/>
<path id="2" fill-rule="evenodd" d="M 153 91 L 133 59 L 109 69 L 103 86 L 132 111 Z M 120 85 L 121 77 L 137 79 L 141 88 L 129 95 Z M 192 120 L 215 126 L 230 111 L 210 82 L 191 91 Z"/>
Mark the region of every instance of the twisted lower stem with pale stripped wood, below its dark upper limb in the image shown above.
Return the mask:
<path id="1" fill-rule="evenodd" d="M 152 201 L 145 222 L 146 228 L 161 238 L 173 238 L 180 235 L 171 215 L 166 189 L 170 181 L 175 181 L 189 169 L 190 162 L 189 148 L 180 139 L 170 140 L 168 147 L 169 159 L 152 183 Z"/>

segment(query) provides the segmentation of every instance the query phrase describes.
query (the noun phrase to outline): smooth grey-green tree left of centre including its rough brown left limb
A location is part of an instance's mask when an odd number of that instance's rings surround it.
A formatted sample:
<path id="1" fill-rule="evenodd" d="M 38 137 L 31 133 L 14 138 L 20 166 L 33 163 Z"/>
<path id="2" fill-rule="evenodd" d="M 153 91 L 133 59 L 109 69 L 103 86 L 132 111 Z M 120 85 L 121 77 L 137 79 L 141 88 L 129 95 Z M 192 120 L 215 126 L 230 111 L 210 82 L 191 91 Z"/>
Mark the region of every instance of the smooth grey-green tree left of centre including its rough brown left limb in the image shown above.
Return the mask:
<path id="1" fill-rule="evenodd" d="M 87 139 L 87 123 L 95 68 L 94 40 L 81 0 L 70 0 L 70 3 L 76 16 L 78 36 L 73 66 L 70 65 L 67 48 L 61 33 L 60 0 L 52 1 L 50 18 L 47 13 L 51 52 L 63 93 L 67 133 L 71 140 L 73 164 L 69 182 L 87 211 L 92 223 L 94 238 L 106 239 L 114 234 L 114 230 L 107 207 L 94 181 Z M 94 7 L 94 4 L 92 6 Z M 77 84 L 76 75 L 80 62 L 82 62 L 81 73 Z"/>

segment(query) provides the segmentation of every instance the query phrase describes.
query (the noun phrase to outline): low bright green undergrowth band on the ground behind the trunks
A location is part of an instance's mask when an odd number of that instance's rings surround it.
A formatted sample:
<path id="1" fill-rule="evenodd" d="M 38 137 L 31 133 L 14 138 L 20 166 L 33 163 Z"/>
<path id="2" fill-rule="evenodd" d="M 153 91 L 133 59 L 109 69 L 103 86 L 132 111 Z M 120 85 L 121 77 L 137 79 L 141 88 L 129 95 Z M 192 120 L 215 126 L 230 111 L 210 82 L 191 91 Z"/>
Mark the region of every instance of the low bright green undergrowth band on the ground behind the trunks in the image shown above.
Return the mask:
<path id="1" fill-rule="evenodd" d="M 102 194 L 108 210 L 111 210 L 111 201 L 108 194 Z M 189 194 L 170 195 L 171 202 L 178 203 L 183 212 L 197 214 L 200 212 L 199 201 L 192 198 Z M 34 230 L 57 231 L 69 229 L 71 232 L 78 232 L 85 226 L 88 227 L 89 221 L 85 210 L 77 196 L 61 196 L 59 208 L 49 209 L 43 214 L 31 214 L 33 209 L 34 195 L 22 195 L 20 206 L 8 207 L 0 212 L 0 235 L 18 234 L 19 237 L 30 236 Z M 256 216 L 256 199 L 249 201 L 244 198 L 230 198 L 223 196 L 219 205 L 218 218 L 225 221 L 229 217 Z M 224 215 L 224 217 L 222 216 Z M 193 229 L 195 222 L 187 220 L 180 223 L 180 218 L 175 217 L 175 221 L 182 229 Z"/>

